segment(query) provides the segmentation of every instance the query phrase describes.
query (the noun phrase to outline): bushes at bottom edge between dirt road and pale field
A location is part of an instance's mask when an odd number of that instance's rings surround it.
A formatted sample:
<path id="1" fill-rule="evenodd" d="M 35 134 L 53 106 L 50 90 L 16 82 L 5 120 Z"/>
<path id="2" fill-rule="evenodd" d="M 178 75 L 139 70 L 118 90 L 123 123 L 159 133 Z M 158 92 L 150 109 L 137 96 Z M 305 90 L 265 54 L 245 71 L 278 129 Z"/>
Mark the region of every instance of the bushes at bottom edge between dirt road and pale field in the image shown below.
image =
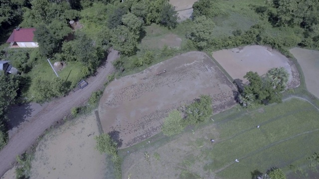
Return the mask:
<path id="1" fill-rule="evenodd" d="M 21 157 L 16 156 L 16 161 L 18 163 L 18 166 L 15 169 L 16 179 L 27 179 L 30 176 L 32 158 L 32 155 L 27 153 L 23 153 Z"/>

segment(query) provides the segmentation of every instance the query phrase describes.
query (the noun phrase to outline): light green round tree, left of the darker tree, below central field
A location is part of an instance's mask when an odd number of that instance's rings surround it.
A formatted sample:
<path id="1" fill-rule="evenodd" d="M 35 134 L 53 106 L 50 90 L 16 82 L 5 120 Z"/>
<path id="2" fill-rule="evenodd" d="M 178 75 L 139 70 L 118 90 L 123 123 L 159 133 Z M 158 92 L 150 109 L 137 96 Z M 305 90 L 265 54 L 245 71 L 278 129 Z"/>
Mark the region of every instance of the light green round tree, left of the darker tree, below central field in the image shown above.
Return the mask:
<path id="1" fill-rule="evenodd" d="M 170 111 L 168 116 L 165 117 L 164 124 L 162 126 L 164 135 L 175 135 L 180 133 L 183 129 L 180 112 L 177 110 Z"/>

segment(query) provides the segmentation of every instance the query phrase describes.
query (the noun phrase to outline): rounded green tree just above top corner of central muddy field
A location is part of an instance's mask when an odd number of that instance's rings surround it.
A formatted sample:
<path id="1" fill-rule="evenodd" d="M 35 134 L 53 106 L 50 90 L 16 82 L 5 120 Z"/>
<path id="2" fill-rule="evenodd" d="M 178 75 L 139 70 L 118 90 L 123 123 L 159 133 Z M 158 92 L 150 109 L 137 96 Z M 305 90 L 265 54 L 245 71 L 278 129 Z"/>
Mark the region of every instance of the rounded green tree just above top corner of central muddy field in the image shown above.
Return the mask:
<path id="1" fill-rule="evenodd" d="M 207 47 L 208 42 L 212 40 L 212 33 L 215 23 L 206 16 L 196 17 L 194 26 L 191 27 L 190 39 L 200 49 Z"/>

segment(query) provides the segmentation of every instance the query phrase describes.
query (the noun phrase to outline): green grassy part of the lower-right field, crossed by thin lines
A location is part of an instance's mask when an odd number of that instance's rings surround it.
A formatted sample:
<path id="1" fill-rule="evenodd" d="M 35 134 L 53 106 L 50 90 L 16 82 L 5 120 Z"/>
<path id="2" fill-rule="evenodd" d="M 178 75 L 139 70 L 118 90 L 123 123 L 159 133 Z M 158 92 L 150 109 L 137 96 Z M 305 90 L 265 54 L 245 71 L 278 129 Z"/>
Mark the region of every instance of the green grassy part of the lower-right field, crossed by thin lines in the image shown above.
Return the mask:
<path id="1" fill-rule="evenodd" d="M 290 164 L 302 164 L 318 151 L 318 115 L 309 102 L 290 99 L 221 121 L 218 142 L 205 151 L 213 162 L 205 168 L 225 179 L 250 178 L 250 172 L 272 167 L 288 172 Z"/>

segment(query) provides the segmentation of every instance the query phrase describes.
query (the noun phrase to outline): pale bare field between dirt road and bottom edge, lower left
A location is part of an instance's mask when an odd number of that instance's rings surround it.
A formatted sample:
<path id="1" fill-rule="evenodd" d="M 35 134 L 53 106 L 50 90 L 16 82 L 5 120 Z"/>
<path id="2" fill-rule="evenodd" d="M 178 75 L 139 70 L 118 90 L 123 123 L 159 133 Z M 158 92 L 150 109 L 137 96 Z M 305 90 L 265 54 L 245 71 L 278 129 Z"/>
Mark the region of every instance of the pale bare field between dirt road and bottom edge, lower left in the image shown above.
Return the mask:
<path id="1" fill-rule="evenodd" d="M 45 135 L 36 147 L 31 179 L 103 179 L 106 156 L 95 149 L 95 114 L 68 121 Z"/>

